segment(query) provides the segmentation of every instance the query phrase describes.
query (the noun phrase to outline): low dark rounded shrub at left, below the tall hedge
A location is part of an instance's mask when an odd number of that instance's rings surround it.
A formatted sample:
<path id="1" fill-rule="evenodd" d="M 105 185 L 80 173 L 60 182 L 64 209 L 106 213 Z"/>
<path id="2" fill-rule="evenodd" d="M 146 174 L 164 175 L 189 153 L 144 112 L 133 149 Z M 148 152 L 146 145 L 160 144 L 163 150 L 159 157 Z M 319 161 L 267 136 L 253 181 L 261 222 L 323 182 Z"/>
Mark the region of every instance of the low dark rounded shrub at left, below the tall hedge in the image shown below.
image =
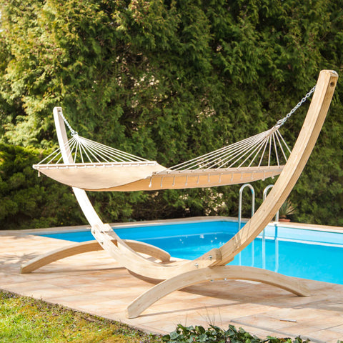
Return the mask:
<path id="1" fill-rule="evenodd" d="M 0 229 L 85 223 L 71 189 L 31 168 L 42 156 L 41 149 L 0 144 Z"/>

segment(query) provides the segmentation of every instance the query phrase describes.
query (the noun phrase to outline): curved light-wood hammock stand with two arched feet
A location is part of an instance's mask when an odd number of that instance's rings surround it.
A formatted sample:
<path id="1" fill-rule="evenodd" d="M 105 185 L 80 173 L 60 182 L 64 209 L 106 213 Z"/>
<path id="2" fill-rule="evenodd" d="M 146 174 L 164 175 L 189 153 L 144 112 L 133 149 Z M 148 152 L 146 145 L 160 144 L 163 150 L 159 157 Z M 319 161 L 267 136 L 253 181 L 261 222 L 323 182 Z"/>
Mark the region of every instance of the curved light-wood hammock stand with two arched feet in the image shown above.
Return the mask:
<path id="1" fill-rule="evenodd" d="M 91 224 L 91 233 L 96 241 L 72 244 L 70 247 L 36 257 L 24 264 L 21 272 L 32 272 L 39 267 L 74 254 L 104 249 L 130 272 L 150 279 L 164 280 L 129 304 L 126 312 L 129 318 L 138 317 L 151 304 L 171 292 L 209 280 L 252 280 L 272 284 L 299 296 L 310 295 L 309 290 L 300 279 L 265 269 L 227 266 L 227 264 L 262 232 L 292 191 L 322 129 L 337 79 L 338 75 L 335 71 L 323 70 L 320 72 L 304 124 L 277 182 L 249 222 L 219 249 L 212 249 L 194 261 L 169 262 L 169 254 L 159 248 L 137 241 L 120 239 L 109 224 L 101 221 L 89 202 L 86 192 L 73 187 L 76 199 Z M 55 107 L 54 120 L 59 146 L 64 155 L 64 163 L 72 164 L 73 161 L 68 155 L 68 144 L 66 144 L 68 141 L 66 128 L 64 121 L 59 116 L 59 111 L 61 109 Z M 139 253 L 155 257 L 161 262 L 151 262 Z"/>

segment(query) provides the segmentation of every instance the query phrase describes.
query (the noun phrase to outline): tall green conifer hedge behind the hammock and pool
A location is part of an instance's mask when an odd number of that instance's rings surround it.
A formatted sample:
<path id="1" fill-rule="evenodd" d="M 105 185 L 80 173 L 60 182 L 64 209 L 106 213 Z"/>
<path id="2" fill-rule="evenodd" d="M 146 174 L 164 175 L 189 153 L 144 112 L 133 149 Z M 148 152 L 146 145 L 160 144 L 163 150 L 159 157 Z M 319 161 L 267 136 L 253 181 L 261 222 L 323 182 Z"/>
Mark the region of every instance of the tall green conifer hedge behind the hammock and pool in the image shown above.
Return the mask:
<path id="1" fill-rule="evenodd" d="M 342 73 L 342 0 L 0 4 L 0 140 L 8 144 L 53 146 L 51 111 L 62 106 L 81 135 L 171 166 L 267 129 L 320 69 Z M 294 220 L 343 225 L 342 96 L 339 81 L 291 195 Z M 282 128 L 291 145 L 307 106 Z M 270 182 L 255 183 L 257 196 Z M 92 199 L 109 222 L 236 216 L 238 189 Z"/>

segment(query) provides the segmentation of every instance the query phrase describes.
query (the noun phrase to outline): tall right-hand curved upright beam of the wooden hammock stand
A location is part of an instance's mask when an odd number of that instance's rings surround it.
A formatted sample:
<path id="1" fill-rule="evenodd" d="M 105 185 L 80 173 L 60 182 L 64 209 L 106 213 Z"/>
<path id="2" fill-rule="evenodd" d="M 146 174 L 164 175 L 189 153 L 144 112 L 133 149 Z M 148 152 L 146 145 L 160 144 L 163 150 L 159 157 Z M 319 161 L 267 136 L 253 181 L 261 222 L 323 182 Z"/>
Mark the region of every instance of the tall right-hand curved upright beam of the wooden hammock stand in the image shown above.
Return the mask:
<path id="1" fill-rule="evenodd" d="M 224 265 L 232 261 L 239 252 L 242 252 L 262 232 L 264 227 L 267 227 L 267 224 L 286 201 L 300 174 L 302 174 L 318 139 L 319 132 L 322 130 L 337 79 L 338 74 L 336 71 L 322 70 L 320 72 L 302 130 L 294 144 L 287 164 L 284 166 L 284 170 L 254 216 L 229 242 L 219 248 L 222 261 L 214 262 L 213 265 Z"/>

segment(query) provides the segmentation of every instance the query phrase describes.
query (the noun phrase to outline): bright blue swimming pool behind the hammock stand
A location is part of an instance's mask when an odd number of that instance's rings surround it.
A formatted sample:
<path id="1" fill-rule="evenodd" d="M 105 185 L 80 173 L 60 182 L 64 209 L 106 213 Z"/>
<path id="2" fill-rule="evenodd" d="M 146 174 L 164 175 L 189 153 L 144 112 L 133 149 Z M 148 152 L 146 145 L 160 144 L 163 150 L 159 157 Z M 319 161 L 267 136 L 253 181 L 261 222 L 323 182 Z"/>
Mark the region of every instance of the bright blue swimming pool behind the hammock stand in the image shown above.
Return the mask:
<path id="1" fill-rule="evenodd" d="M 280 224 L 269 224 L 230 264 L 343 284 L 343 231 L 327 232 Z M 221 247 L 236 234 L 237 229 L 237 222 L 229 220 L 115 227 L 122 239 L 153 244 L 172 257 L 182 259 L 195 259 L 210 249 Z M 94 239 L 89 230 L 40 235 L 73 242 Z"/>

